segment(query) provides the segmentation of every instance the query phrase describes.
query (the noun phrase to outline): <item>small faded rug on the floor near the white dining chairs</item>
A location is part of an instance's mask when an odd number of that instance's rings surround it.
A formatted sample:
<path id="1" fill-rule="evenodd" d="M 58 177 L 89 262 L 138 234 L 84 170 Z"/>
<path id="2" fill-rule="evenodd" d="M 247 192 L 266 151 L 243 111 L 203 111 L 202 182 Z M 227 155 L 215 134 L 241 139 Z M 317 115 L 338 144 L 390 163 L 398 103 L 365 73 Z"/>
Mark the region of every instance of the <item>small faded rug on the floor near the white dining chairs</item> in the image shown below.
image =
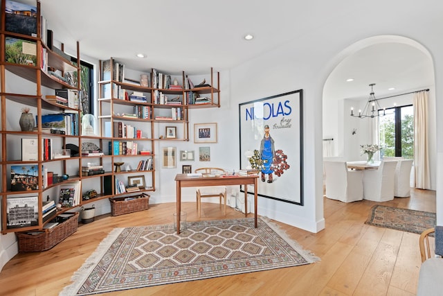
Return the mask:
<path id="1" fill-rule="evenodd" d="M 366 224 L 421 234 L 425 229 L 435 227 L 435 213 L 415 211 L 413 209 L 399 209 L 376 204 Z"/>

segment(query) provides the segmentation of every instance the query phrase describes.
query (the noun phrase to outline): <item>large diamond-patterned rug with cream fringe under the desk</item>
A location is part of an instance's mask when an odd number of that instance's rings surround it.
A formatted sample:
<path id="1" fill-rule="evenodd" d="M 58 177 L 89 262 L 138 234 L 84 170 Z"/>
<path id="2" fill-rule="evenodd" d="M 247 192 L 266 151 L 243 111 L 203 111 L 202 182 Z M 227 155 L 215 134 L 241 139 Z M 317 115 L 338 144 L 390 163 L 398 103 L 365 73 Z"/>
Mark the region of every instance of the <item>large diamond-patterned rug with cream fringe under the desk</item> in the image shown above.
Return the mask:
<path id="1" fill-rule="evenodd" d="M 92 295 L 245 272 L 319 259 L 266 218 L 189 222 L 114 229 L 60 295 Z"/>

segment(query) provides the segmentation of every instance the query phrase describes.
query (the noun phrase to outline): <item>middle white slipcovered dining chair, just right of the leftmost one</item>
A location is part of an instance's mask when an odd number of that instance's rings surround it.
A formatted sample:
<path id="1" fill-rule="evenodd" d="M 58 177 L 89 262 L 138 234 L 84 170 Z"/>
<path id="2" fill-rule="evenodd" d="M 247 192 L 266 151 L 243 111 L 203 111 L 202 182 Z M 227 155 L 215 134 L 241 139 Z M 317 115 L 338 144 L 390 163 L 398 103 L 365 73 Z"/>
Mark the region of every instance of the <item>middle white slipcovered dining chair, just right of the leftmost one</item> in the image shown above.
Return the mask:
<path id="1" fill-rule="evenodd" d="M 397 161 L 381 162 L 377 170 L 363 173 L 363 198 L 374 202 L 394 199 L 394 178 Z"/>

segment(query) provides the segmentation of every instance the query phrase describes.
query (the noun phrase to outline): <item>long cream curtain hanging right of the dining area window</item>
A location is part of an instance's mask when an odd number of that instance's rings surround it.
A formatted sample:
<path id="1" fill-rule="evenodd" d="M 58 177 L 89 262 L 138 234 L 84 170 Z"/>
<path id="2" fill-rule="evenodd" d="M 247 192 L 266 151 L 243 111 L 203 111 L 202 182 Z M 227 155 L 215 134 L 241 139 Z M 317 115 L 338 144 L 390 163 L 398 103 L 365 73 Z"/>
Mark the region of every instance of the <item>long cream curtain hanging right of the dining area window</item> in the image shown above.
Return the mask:
<path id="1" fill-rule="evenodd" d="M 428 151 L 428 92 L 414 94 L 414 169 L 415 187 L 431 189 Z"/>

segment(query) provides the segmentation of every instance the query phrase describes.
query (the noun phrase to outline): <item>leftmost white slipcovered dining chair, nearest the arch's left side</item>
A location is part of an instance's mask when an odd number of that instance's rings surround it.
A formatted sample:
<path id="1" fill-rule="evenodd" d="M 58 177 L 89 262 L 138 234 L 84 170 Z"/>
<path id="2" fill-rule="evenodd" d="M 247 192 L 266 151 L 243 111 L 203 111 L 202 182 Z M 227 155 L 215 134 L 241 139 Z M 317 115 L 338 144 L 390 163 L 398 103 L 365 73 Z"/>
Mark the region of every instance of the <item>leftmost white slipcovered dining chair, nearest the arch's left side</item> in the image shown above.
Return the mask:
<path id="1" fill-rule="evenodd" d="M 326 197 L 341 202 L 363 200 L 363 171 L 350 171 L 346 162 L 323 162 Z"/>

